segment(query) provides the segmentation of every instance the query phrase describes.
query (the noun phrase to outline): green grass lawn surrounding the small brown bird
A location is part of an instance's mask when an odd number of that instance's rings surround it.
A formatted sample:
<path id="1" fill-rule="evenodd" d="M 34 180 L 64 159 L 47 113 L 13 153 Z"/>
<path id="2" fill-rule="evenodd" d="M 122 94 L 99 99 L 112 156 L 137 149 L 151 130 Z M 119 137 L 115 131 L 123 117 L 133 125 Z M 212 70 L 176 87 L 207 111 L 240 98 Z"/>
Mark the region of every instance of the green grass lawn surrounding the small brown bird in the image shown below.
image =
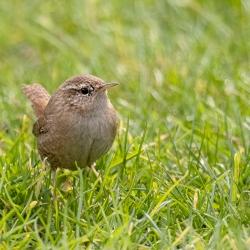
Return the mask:
<path id="1" fill-rule="evenodd" d="M 250 248 L 248 1 L 11 0 L 0 25 L 0 249 Z M 119 131 L 53 206 L 21 85 L 79 73 L 120 83 Z"/>

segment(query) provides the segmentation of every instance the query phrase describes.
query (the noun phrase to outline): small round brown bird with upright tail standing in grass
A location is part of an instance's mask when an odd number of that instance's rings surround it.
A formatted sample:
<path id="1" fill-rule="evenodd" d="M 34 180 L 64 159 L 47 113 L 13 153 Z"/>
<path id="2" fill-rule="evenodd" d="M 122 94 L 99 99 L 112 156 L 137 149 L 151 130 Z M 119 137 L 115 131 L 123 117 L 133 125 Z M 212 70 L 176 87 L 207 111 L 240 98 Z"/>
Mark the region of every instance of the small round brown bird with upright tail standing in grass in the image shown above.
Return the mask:
<path id="1" fill-rule="evenodd" d="M 50 163 L 53 177 L 57 168 L 75 170 L 91 167 L 106 154 L 117 131 L 117 116 L 105 83 L 92 75 L 76 75 L 66 80 L 50 97 L 40 84 L 23 85 L 32 102 L 37 121 L 33 134 L 42 160 Z"/>

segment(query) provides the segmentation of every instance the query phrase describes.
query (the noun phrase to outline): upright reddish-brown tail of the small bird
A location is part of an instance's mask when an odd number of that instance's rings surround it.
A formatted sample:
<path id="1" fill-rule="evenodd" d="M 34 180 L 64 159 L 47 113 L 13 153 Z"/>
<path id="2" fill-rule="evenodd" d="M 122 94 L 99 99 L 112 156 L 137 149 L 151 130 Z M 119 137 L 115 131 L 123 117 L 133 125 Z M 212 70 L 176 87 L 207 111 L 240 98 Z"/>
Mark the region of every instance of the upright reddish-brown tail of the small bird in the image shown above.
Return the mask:
<path id="1" fill-rule="evenodd" d="M 22 90 L 31 100 L 35 115 L 39 117 L 41 114 L 43 114 L 43 111 L 49 102 L 49 93 L 38 83 L 34 83 L 32 85 L 24 84 L 22 86 Z"/>

